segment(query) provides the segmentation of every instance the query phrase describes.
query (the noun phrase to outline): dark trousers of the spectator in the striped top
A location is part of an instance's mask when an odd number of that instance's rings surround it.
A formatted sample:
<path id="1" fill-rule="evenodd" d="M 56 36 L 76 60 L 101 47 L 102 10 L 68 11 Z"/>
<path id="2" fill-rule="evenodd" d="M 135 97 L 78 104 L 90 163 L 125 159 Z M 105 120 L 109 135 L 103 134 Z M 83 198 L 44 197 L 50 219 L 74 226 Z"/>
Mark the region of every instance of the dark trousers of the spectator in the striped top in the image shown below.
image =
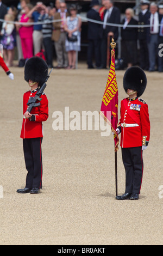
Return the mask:
<path id="1" fill-rule="evenodd" d="M 43 45 L 45 47 L 45 58 L 49 68 L 53 66 L 53 42 L 50 37 L 43 38 Z"/>

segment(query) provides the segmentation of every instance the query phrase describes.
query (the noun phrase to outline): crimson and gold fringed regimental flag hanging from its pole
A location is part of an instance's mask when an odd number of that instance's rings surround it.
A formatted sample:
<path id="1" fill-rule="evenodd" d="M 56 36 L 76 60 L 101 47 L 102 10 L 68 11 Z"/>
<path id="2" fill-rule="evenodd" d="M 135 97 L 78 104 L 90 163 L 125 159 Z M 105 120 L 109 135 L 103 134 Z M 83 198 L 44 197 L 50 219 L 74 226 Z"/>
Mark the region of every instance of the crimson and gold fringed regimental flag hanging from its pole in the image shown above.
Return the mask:
<path id="1" fill-rule="evenodd" d="M 111 115 L 107 114 L 111 113 Z M 108 75 L 108 80 L 105 87 L 105 92 L 102 99 L 100 115 L 106 123 L 111 126 L 111 131 L 114 133 L 115 152 L 118 151 L 119 137 L 116 129 L 118 124 L 118 87 L 115 74 L 115 50 L 111 50 L 111 64 Z M 108 118 L 111 117 L 111 118 Z M 109 120 L 110 119 L 110 120 Z"/>

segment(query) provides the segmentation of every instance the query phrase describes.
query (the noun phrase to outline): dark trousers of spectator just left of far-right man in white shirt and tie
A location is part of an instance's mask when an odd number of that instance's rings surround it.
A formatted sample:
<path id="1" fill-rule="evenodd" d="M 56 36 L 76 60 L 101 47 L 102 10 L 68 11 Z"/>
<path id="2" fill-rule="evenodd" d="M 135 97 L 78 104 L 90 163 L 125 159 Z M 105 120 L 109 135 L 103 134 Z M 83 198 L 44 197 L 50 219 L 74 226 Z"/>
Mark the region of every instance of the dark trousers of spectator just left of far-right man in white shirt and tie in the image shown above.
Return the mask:
<path id="1" fill-rule="evenodd" d="M 147 40 L 139 40 L 140 43 L 140 68 L 149 69 L 148 45 Z"/>

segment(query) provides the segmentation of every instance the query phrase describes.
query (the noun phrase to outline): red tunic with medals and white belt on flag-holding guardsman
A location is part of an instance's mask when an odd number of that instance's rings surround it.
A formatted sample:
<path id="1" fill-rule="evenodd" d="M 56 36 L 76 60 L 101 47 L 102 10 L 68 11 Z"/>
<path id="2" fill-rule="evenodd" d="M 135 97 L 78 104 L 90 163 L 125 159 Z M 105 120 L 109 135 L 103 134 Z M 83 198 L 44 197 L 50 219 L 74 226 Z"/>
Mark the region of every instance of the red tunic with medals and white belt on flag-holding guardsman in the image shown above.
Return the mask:
<path id="1" fill-rule="evenodd" d="M 148 145 L 150 121 L 148 105 L 142 99 L 123 99 L 121 101 L 121 147 L 141 147 Z"/>

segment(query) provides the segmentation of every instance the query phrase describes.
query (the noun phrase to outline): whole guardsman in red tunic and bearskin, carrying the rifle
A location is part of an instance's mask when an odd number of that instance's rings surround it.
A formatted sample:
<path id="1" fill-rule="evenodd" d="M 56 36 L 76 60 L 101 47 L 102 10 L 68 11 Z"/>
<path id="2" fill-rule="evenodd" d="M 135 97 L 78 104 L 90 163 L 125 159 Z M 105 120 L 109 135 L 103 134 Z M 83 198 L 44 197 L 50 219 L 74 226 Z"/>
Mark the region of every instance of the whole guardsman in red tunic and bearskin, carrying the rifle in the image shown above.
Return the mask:
<path id="1" fill-rule="evenodd" d="M 34 97 L 37 90 L 45 82 L 48 75 L 48 66 L 40 57 L 32 57 L 27 60 L 24 68 L 24 79 L 28 82 L 30 90 L 23 96 L 23 124 L 21 138 L 23 139 L 24 160 L 28 171 L 26 187 L 18 189 L 18 193 L 37 194 L 42 188 L 42 151 L 43 138 L 42 121 L 48 118 L 48 100 L 43 93 L 40 97 L 41 105 L 34 107 L 29 113 L 27 102 Z"/>

